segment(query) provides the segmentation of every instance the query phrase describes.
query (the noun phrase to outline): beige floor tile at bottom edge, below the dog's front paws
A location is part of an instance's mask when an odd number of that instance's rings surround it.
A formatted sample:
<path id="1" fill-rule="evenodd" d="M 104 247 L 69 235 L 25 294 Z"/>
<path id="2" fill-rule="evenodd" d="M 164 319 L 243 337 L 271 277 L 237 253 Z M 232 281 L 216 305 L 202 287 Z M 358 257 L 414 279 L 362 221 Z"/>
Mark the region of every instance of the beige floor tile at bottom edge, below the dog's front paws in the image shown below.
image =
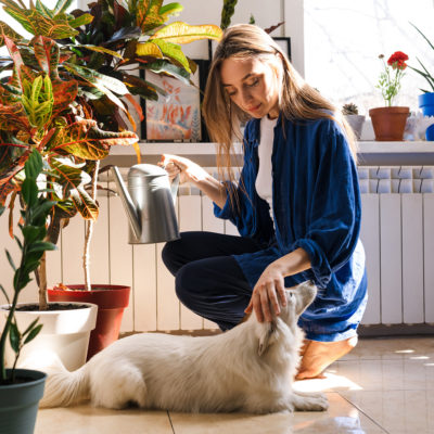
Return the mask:
<path id="1" fill-rule="evenodd" d="M 360 413 L 337 393 L 328 393 L 324 412 L 252 416 L 186 414 L 170 412 L 175 434 L 380 434 L 379 425 Z"/>

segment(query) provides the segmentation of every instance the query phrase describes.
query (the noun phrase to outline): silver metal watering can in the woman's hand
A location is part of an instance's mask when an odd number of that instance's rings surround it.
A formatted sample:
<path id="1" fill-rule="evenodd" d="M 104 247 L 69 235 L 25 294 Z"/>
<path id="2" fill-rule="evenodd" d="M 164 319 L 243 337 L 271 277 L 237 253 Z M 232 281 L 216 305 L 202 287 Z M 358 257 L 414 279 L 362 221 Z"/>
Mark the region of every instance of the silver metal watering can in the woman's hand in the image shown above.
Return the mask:
<path id="1" fill-rule="evenodd" d="M 129 244 L 150 244 L 179 239 L 175 213 L 179 175 L 173 181 L 165 169 L 137 164 L 128 171 L 128 189 L 119 169 L 112 166 L 117 191 L 130 222 Z"/>

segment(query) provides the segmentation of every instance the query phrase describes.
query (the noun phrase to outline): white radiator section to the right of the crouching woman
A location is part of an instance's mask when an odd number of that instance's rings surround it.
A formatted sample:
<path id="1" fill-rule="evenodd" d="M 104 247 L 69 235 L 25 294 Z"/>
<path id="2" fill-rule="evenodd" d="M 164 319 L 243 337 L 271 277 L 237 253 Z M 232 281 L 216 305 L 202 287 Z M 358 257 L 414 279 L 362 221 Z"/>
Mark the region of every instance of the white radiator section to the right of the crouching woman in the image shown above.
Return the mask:
<path id="1" fill-rule="evenodd" d="M 363 324 L 434 322 L 434 169 L 361 168 Z"/>

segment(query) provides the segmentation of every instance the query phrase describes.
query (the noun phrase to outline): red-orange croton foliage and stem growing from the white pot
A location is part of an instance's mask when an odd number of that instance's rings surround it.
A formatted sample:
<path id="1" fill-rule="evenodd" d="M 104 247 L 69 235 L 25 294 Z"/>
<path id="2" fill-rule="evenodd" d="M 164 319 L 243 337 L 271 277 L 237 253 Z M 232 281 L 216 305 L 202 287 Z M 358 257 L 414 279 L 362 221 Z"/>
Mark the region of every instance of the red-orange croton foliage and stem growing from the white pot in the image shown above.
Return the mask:
<path id="1" fill-rule="evenodd" d="M 61 75 L 67 56 L 59 44 L 43 36 L 29 42 L 14 42 L 3 36 L 13 71 L 0 84 L 0 205 L 10 196 L 10 230 L 16 196 L 23 196 L 24 165 L 37 149 L 49 167 L 46 183 L 53 206 L 49 213 L 47 239 L 56 243 L 60 229 L 76 214 L 87 220 L 98 218 L 98 204 L 87 187 L 98 162 L 114 144 L 138 141 L 130 131 L 106 131 L 92 119 L 78 81 Z M 39 304 L 47 308 L 44 256 L 38 269 Z"/>

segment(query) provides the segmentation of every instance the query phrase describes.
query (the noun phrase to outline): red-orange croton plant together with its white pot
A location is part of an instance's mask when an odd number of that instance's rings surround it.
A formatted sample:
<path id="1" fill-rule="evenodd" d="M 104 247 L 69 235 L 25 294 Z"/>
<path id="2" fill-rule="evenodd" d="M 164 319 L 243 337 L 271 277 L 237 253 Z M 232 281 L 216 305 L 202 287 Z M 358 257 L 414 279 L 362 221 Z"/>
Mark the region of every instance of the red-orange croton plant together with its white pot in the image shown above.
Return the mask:
<path id="1" fill-rule="evenodd" d="M 68 218 L 80 214 L 94 219 L 98 215 L 98 206 L 86 191 L 95 161 L 107 154 L 110 145 L 135 143 L 138 137 L 98 127 L 78 81 L 60 68 L 67 65 L 72 52 L 44 36 L 26 41 L 12 31 L 10 35 L 14 39 L 4 34 L 2 38 L 11 56 L 3 68 L 12 67 L 12 75 L 0 85 L 0 204 L 9 199 L 12 217 L 16 199 L 23 200 L 24 164 L 36 148 L 46 169 L 39 182 L 50 187 L 47 196 L 54 202 L 46 240 L 55 244 L 60 227 Z M 12 225 L 12 218 L 10 221 Z M 48 304 L 44 255 L 36 276 L 39 306 L 21 307 L 16 316 L 22 323 L 40 317 L 44 328 L 26 346 L 21 363 L 43 366 L 47 353 L 55 353 L 67 369 L 77 369 L 86 361 L 97 306 L 80 303 L 80 309 L 62 310 L 59 304 Z"/>

